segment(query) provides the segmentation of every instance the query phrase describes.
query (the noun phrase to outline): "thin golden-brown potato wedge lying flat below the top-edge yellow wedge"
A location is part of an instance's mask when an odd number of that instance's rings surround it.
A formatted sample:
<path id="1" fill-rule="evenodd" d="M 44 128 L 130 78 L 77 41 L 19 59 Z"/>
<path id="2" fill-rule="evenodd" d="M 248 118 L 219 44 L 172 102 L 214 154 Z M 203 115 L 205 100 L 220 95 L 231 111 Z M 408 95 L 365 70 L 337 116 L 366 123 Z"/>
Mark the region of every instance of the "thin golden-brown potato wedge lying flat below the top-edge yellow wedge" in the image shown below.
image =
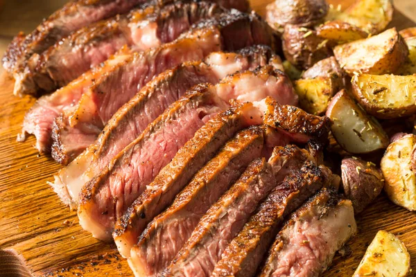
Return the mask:
<path id="1" fill-rule="evenodd" d="M 328 21 L 318 26 L 316 32 L 318 37 L 331 39 L 338 42 L 338 44 L 368 37 L 368 33 L 361 28 L 339 20 Z"/>

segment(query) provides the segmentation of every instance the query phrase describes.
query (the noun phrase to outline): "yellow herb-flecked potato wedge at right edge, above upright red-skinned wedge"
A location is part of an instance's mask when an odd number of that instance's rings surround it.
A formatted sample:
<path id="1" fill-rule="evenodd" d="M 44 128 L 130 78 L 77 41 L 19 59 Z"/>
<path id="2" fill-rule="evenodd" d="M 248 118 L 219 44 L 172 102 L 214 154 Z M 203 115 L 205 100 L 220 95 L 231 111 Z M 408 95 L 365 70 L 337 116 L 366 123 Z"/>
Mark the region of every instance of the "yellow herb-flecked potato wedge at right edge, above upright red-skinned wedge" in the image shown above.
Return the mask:
<path id="1" fill-rule="evenodd" d="M 416 112 L 416 75 L 355 75 L 356 100 L 376 118 L 397 118 Z"/>

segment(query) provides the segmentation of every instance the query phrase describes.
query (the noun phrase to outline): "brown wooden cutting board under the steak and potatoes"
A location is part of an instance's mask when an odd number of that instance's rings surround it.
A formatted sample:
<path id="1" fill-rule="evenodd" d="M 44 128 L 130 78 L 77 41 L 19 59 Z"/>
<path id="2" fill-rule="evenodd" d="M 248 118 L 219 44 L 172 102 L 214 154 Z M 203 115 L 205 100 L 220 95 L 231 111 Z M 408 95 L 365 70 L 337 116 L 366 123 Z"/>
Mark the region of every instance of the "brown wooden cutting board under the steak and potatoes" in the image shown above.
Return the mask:
<path id="1" fill-rule="evenodd" d="M 270 0 L 252 0 L 263 15 Z M 331 1 L 347 6 L 348 1 Z M 395 12 L 391 26 L 416 26 Z M 35 276 L 132 276 L 126 260 L 114 244 L 100 242 L 81 229 L 76 211 L 69 211 L 47 181 L 60 169 L 49 156 L 38 154 L 35 137 L 18 143 L 25 112 L 35 99 L 12 95 L 13 80 L 0 76 L 0 276 L 10 267 L 25 264 Z M 391 231 L 404 241 L 416 269 L 416 214 L 395 206 L 381 195 L 357 217 L 358 235 L 349 242 L 352 254 L 336 256 L 324 276 L 351 276 L 367 245 L 379 229 Z M 18 259 L 13 260 L 15 253 Z M 8 273 L 7 273 L 8 272 Z M 23 272 L 23 271 L 21 271 Z"/>

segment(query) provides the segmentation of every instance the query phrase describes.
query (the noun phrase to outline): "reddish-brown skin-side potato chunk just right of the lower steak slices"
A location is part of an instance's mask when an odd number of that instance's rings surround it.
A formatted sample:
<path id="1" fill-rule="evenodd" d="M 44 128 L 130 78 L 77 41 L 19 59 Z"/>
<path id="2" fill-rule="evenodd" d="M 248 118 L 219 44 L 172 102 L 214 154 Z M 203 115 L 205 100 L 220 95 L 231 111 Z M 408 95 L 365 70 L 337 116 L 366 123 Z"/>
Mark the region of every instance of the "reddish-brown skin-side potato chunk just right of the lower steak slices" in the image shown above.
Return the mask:
<path id="1" fill-rule="evenodd" d="M 352 201 L 354 213 L 361 213 L 383 190 L 381 170 L 358 158 L 343 159 L 341 163 L 345 196 Z"/>

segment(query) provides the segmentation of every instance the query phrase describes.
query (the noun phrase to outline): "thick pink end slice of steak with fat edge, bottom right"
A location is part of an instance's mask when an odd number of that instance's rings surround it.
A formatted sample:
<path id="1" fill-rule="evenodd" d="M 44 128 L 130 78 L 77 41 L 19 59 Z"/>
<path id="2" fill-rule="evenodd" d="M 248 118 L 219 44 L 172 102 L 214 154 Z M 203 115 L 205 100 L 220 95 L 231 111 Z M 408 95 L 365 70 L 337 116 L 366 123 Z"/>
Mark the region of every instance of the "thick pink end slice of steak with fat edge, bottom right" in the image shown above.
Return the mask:
<path id="1" fill-rule="evenodd" d="M 281 229 L 260 276 L 320 276 L 356 231 L 352 203 L 322 189 Z"/>

